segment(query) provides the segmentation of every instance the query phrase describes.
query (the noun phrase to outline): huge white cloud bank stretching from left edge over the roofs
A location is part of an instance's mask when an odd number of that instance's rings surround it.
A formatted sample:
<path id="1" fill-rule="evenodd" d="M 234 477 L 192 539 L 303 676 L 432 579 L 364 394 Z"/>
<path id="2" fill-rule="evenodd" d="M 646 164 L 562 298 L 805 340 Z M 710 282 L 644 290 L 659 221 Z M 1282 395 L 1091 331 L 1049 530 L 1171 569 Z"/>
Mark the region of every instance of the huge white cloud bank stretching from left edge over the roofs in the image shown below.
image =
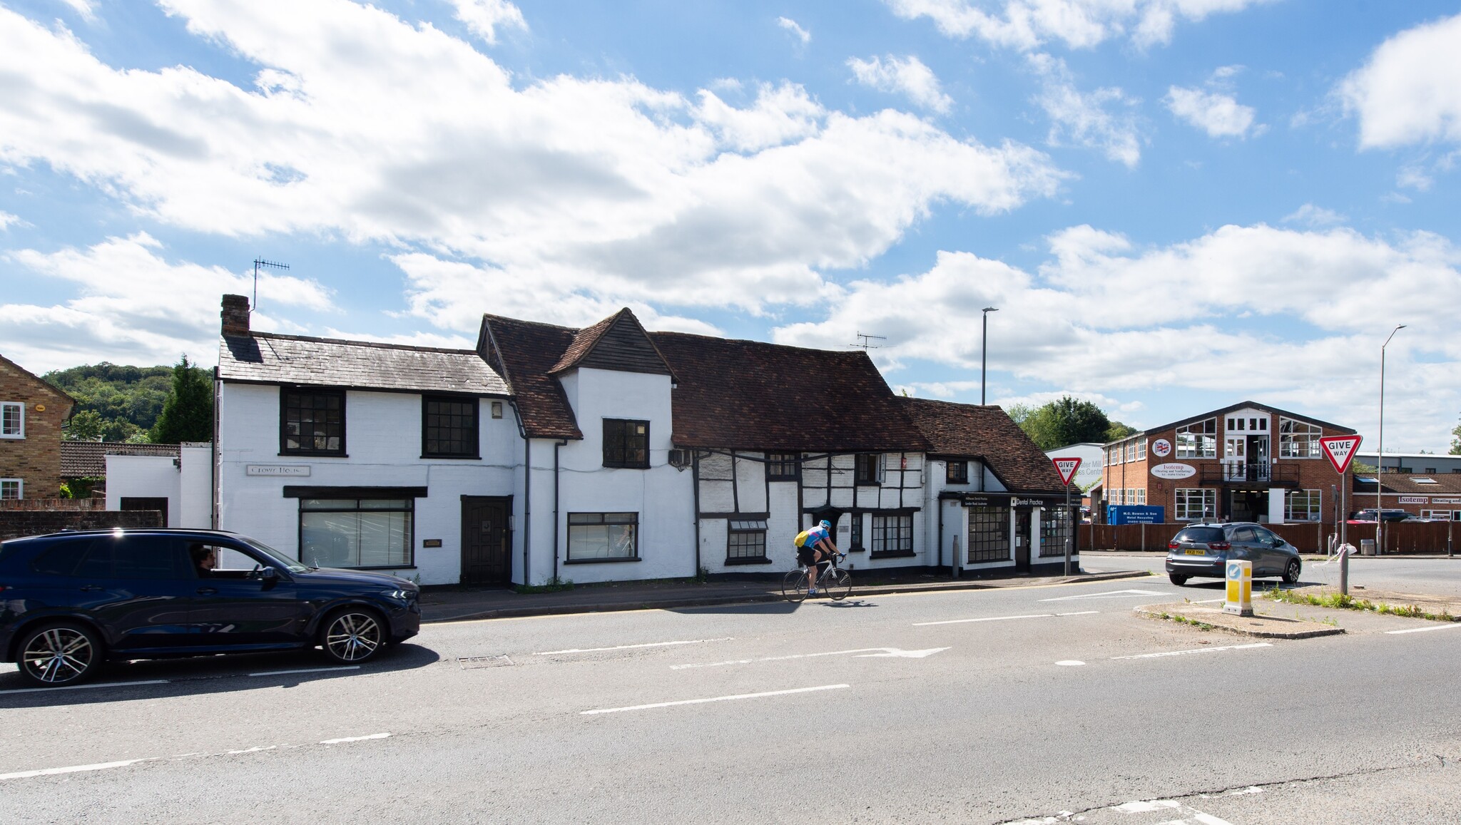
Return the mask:
<path id="1" fill-rule="evenodd" d="M 0 73 L 20 79 L 0 96 L 0 164 L 48 164 L 188 231 L 465 261 L 470 279 L 408 280 L 415 311 L 457 331 L 530 295 L 584 312 L 808 304 L 833 289 L 823 270 L 882 254 L 935 203 L 1007 212 L 1064 177 L 1027 146 L 824 111 L 790 83 L 739 108 L 633 77 L 514 89 L 469 44 L 371 6 L 165 7 L 259 64 L 256 88 L 115 69 L 0 9 Z"/>

